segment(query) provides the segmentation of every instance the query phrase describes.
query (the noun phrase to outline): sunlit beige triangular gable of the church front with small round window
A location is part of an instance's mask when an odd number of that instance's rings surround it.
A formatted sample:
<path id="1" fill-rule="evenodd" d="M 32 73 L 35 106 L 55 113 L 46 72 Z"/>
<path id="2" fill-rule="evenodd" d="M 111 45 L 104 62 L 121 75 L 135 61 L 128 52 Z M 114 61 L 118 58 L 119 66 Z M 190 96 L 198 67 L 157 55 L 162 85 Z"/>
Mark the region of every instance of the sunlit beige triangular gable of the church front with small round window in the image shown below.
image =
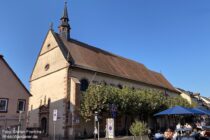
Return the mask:
<path id="1" fill-rule="evenodd" d="M 56 72 L 68 65 L 68 62 L 53 35 L 53 31 L 50 30 L 41 47 L 30 81 Z"/>

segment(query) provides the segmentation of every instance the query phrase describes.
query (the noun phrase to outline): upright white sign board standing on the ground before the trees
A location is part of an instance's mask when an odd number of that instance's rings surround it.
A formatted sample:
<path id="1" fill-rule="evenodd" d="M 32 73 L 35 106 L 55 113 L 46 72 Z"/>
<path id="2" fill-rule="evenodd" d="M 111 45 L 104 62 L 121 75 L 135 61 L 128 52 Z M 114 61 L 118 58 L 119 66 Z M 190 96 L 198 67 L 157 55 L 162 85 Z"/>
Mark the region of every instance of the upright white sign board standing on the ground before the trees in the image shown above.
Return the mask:
<path id="1" fill-rule="evenodd" d="M 106 138 L 114 138 L 114 119 L 109 118 L 106 120 Z"/>

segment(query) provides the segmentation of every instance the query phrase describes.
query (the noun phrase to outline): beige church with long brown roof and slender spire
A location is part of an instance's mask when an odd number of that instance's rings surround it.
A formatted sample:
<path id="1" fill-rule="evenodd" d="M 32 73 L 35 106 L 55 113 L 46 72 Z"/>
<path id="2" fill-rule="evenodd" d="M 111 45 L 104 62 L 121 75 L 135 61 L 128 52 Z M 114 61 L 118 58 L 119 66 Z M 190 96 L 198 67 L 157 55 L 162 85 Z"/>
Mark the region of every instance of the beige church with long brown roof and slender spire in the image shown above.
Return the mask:
<path id="1" fill-rule="evenodd" d="M 79 116 L 81 91 L 89 84 L 106 83 L 119 88 L 157 89 L 167 96 L 179 92 L 160 73 L 143 64 L 92 47 L 70 37 L 65 5 L 59 34 L 49 30 L 30 78 L 29 127 L 41 128 L 46 136 L 53 134 L 53 110 L 58 109 L 56 136 L 74 139 L 93 134 L 93 123 Z M 117 119 L 116 129 L 124 120 Z M 101 124 L 104 132 L 105 119 Z"/>

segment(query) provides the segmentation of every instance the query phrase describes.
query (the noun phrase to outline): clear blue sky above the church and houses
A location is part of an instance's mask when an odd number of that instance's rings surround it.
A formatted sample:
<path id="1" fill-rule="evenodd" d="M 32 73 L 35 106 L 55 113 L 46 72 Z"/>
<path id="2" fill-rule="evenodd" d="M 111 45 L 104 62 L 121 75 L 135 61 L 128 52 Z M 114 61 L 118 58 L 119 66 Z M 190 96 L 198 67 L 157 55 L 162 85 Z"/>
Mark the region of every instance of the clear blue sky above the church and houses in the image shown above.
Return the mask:
<path id="1" fill-rule="evenodd" d="M 50 22 L 64 0 L 1 0 L 0 54 L 29 88 Z M 69 0 L 71 37 L 161 72 L 210 97 L 209 0 Z"/>

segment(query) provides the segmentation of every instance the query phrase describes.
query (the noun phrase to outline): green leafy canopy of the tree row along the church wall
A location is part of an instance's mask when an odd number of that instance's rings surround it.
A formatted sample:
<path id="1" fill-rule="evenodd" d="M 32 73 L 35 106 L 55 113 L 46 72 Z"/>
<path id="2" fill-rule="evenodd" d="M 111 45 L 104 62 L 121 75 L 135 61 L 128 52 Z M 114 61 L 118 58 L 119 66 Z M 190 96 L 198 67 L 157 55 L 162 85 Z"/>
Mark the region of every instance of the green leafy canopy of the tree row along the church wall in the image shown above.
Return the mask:
<path id="1" fill-rule="evenodd" d="M 129 87 L 119 89 L 109 85 L 90 85 L 87 91 L 83 93 L 81 116 L 88 121 L 93 116 L 94 111 L 109 113 L 110 104 L 117 106 L 118 115 L 131 116 L 153 115 L 176 105 L 192 107 L 182 97 L 167 97 L 159 90 L 134 90 Z"/>

